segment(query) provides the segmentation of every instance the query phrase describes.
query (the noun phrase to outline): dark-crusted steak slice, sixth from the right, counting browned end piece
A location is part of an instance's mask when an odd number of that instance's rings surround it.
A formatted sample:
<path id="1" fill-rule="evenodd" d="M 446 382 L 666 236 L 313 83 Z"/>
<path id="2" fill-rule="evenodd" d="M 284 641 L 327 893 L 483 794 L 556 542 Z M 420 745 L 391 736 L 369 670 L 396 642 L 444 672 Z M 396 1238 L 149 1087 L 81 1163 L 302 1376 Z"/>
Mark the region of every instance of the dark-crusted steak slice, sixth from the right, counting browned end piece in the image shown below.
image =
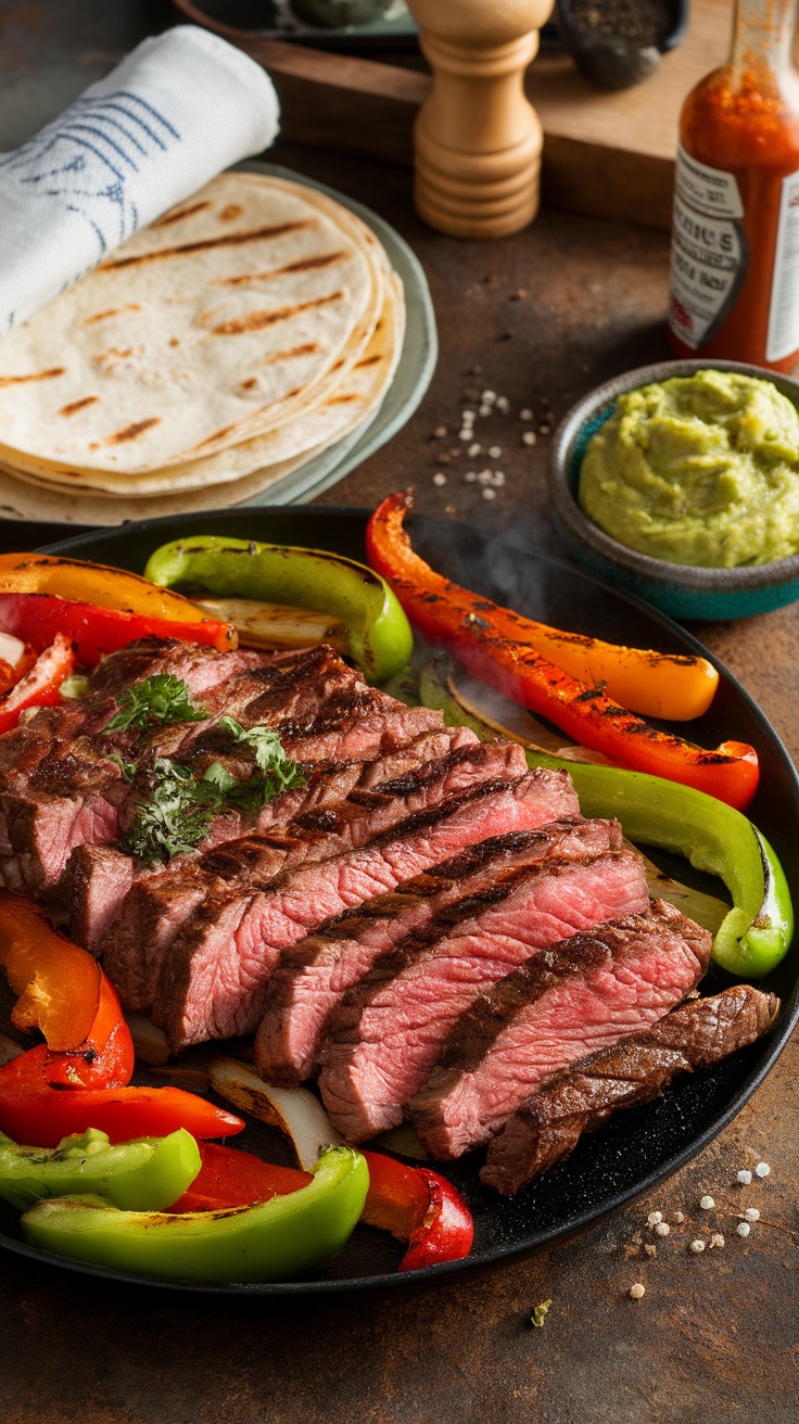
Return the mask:
<path id="1" fill-rule="evenodd" d="M 137 881 L 103 941 L 105 968 L 122 1002 L 127 1008 L 151 1007 L 161 961 L 175 930 L 207 896 L 215 900 L 248 896 L 305 860 L 328 860 L 366 844 L 466 786 L 498 778 L 510 780 L 518 776 L 520 766 L 526 766 L 521 748 L 474 740 L 399 779 L 353 790 L 335 806 L 312 807 L 285 826 L 245 836 L 188 866 Z M 201 926 L 205 938 L 205 917 Z M 197 926 L 189 926 L 187 933 L 195 931 Z"/>

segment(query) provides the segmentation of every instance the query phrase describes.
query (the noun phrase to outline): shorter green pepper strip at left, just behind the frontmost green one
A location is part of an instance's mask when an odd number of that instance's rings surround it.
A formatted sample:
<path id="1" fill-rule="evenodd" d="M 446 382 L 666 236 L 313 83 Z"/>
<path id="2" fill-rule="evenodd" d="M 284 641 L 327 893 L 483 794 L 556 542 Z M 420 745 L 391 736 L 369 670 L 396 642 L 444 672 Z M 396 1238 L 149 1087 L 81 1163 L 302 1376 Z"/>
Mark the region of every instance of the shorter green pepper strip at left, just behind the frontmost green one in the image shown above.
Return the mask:
<path id="1" fill-rule="evenodd" d="M 0 1132 L 0 1196 L 20 1212 L 43 1198 L 73 1192 L 93 1192 L 128 1212 L 161 1212 L 182 1196 L 201 1165 L 185 1128 L 118 1146 L 90 1128 L 63 1138 L 57 1148 L 20 1146 Z"/>

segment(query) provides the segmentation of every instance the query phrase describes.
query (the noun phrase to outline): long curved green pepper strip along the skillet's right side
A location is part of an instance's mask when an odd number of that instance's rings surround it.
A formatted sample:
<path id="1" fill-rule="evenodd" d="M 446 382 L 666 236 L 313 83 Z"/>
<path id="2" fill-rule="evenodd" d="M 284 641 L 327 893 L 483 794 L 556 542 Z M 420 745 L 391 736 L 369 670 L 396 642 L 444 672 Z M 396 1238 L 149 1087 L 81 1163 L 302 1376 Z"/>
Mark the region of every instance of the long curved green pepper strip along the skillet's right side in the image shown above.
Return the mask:
<path id="1" fill-rule="evenodd" d="M 436 664 L 423 668 L 419 689 L 423 703 L 440 708 L 446 722 L 470 726 L 483 740 L 496 738 L 494 728 L 453 698 Z M 714 940 L 716 964 L 741 978 L 762 978 L 779 964 L 793 936 L 790 891 L 766 837 L 746 816 L 661 776 L 537 750 L 526 755 L 528 766 L 570 773 L 584 816 L 615 816 L 630 840 L 675 852 L 724 880 L 732 909 Z"/>

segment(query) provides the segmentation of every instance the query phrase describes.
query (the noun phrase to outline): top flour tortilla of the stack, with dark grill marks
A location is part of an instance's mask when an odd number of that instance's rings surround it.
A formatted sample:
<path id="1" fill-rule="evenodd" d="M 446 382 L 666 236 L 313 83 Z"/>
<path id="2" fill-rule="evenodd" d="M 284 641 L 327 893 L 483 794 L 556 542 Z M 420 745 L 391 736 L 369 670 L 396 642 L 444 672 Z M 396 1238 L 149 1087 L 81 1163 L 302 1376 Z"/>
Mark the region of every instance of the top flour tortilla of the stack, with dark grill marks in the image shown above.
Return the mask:
<path id="1" fill-rule="evenodd" d="M 355 365 L 383 290 L 349 209 L 222 174 L 0 342 L 0 459 L 144 473 L 262 434 Z"/>

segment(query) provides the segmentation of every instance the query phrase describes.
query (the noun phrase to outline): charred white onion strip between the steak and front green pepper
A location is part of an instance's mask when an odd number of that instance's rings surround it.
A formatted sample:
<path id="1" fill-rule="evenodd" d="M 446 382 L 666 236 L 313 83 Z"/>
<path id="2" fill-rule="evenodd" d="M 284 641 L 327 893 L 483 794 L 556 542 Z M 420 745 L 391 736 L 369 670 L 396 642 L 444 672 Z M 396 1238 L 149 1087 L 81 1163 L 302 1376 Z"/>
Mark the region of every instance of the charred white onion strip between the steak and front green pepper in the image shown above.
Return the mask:
<path id="1" fill-rule="evenodd" d="M 325 1108 L 308 1088 L 275 1088 L 255 1068 L 216 1054 L 208 1068 L 211 1087 L 235 1108 L 285 1132 L 301 1168 L 308 1172 L 325 1148 L 343 1142 Z"/>

